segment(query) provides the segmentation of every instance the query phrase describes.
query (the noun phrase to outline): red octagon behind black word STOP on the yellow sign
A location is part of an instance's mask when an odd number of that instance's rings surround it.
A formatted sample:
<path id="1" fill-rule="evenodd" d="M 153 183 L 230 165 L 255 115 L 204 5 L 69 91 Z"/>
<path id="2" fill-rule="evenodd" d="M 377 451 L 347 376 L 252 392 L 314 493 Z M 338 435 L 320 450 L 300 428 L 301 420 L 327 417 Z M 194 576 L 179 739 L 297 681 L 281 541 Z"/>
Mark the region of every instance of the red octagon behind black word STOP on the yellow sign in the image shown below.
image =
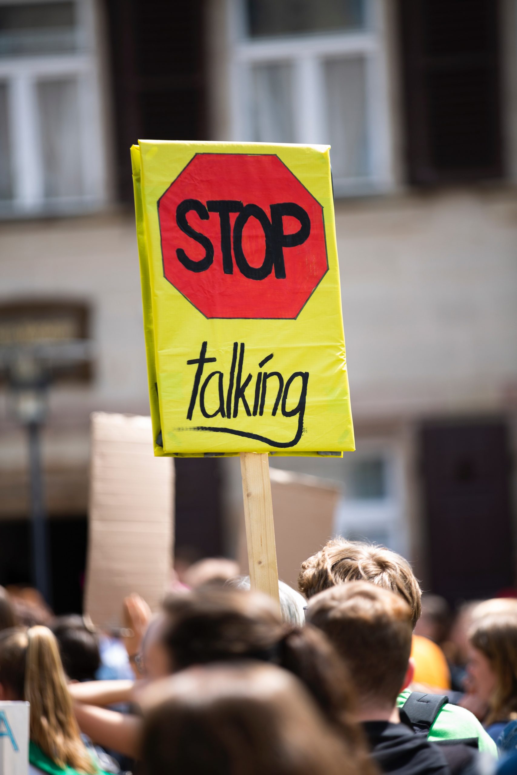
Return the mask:
<path id="1" fill-rule="evenodd" d="M 158 218 L 164 277 L 206 318 L 295 319 L 328 270 L 322 205 L 271 153 L 196 153 Z M 267 276 L 249 276 L 267 272 L 272 255 Z"/>

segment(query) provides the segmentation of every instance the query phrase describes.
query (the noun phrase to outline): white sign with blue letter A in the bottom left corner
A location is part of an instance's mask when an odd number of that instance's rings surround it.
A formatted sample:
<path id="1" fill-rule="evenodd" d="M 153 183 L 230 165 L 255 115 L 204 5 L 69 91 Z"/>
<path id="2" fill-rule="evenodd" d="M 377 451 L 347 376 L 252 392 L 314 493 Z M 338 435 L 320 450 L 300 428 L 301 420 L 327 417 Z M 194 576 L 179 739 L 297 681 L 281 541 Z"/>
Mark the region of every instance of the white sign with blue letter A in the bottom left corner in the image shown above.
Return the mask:
<path id="1" fill-rule="evenodd" d="M 29 773 L 29 703 L 0 702 L 0 775 Z"/>

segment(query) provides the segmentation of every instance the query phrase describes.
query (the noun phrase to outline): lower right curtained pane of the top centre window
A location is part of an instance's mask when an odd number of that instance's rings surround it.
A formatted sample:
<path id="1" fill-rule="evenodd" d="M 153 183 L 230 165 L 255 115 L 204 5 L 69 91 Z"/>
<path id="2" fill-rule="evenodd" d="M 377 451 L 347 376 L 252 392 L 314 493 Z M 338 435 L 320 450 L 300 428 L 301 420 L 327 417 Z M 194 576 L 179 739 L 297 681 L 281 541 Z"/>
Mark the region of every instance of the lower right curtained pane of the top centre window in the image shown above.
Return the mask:
<path id="1" fill-rule="evenodd" d="M 325 63 L 326 113 L 333 177 L 366 177 L 366 73 L 362 57 Z"/>

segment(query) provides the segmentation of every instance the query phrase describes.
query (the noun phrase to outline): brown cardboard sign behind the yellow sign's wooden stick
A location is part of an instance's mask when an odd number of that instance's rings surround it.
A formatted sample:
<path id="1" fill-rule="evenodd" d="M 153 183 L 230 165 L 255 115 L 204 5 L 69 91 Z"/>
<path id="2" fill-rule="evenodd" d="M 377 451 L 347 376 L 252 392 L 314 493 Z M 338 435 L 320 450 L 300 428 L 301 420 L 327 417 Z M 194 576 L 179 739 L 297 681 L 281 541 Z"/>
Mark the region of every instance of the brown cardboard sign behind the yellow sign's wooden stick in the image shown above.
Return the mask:
<path id="1" fill-rule="evenodd" d="M 334 535 L 341 491 L 332 481 L 270 468 L 278 577 L 298 589 L 300 566 Z M 239 564 L 247 573 L 246 534 L 240 519 Z"/>

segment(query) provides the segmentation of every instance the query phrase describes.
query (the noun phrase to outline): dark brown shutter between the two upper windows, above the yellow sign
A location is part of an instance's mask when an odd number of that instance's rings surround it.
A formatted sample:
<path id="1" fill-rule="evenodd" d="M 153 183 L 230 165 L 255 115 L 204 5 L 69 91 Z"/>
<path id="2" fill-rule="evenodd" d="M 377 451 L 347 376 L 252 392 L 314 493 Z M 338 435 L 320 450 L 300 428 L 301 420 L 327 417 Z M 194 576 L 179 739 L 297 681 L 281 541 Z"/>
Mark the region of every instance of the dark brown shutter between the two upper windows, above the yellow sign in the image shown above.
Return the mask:
<path id="1" fill-rule="evenodd" d="M 115 167 L 133 199 L 136 140 L 205 140 L 204 2 L 105 0 L 112 67 Z"/>

